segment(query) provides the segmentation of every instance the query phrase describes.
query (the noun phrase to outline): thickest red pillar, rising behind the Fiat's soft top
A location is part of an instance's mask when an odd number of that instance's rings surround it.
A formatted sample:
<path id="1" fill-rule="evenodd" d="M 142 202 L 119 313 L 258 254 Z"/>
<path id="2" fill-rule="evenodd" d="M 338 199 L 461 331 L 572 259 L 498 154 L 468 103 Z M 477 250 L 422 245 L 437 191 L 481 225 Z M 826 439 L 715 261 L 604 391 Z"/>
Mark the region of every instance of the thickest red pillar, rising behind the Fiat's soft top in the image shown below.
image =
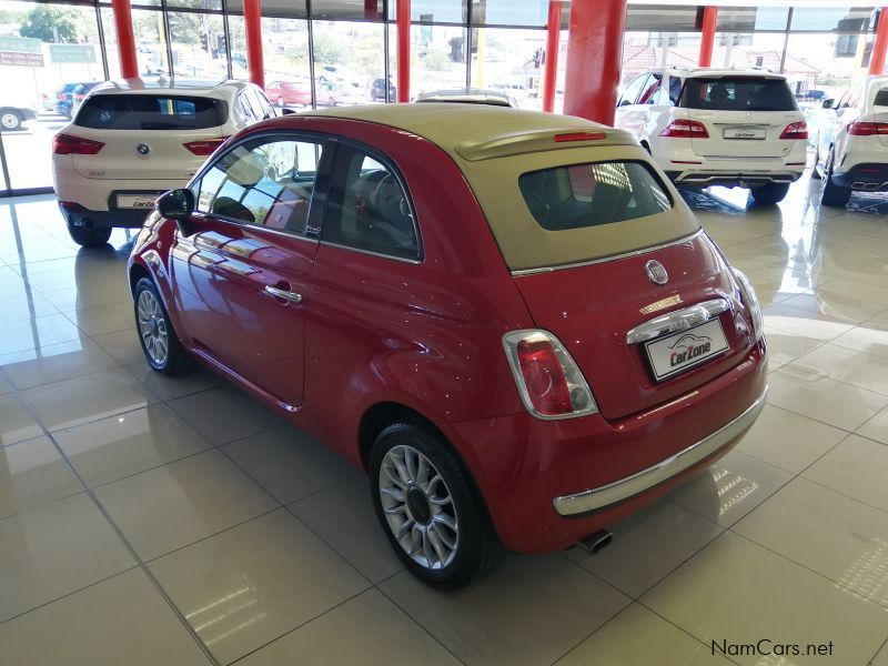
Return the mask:
<path id="1" fill-rule="evenodd" d="M 614 123 L 626 27 L 626 0 L 571 3 L 564 112 Z"/>

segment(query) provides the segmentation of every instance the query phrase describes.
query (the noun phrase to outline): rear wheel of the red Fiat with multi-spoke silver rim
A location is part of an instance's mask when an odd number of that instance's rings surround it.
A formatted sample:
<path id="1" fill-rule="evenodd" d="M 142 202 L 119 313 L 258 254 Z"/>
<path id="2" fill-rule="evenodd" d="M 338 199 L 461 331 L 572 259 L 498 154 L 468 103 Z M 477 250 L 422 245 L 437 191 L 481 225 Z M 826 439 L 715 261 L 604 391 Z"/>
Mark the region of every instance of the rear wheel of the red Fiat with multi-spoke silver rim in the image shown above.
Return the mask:
<path id="1" fill-rule="evenodd" d="M 373 444 L 369 467 L 376 517 L 404 566 L 423 583 L 456 589 L 505 558 L 474 480 L 432 428 L 387 426 Z"/>

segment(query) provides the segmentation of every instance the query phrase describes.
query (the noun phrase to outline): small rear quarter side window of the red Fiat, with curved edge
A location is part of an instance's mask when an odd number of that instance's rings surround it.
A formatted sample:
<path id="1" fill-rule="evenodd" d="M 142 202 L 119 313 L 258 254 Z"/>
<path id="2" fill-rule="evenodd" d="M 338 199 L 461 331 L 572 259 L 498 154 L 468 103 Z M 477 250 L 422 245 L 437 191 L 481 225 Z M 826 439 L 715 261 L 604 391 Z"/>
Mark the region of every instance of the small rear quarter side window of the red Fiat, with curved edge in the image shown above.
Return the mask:
<path id="1" fill-rule="evenodd" d="M 407 195 L 392 171 L 347 144 L 336 149 L 321 240 L 398 259 L 420 259 Z"/>

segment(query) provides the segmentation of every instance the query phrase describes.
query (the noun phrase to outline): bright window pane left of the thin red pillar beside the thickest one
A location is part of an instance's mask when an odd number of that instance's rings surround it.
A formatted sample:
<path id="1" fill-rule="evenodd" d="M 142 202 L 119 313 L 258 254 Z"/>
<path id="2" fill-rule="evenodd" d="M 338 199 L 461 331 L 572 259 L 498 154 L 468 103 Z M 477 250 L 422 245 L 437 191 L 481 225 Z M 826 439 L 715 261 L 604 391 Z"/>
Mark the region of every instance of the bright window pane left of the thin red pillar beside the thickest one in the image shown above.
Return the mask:
<path id="1" fill-rule="evenodd" d="M 507 92 L 522 109 L 539 109 L 545 30 L 474 28 L 472 88 Z"/>

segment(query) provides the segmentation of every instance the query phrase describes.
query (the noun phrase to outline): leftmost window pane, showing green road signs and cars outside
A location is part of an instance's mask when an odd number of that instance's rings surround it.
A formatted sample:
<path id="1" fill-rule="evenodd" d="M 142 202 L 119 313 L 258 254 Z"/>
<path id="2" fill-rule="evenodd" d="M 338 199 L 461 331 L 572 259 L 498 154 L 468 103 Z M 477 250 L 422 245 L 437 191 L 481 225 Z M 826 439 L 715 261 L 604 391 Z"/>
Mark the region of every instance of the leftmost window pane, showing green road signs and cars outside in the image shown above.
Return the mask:
<path id="1" fill-rule="evenodd" d="M 74 110 L 75 87 L 104 79 L 95 10 L 28 2 L 0 8 L 0 131 L 9 184 L 49 188 L 52 137 Z"/>

